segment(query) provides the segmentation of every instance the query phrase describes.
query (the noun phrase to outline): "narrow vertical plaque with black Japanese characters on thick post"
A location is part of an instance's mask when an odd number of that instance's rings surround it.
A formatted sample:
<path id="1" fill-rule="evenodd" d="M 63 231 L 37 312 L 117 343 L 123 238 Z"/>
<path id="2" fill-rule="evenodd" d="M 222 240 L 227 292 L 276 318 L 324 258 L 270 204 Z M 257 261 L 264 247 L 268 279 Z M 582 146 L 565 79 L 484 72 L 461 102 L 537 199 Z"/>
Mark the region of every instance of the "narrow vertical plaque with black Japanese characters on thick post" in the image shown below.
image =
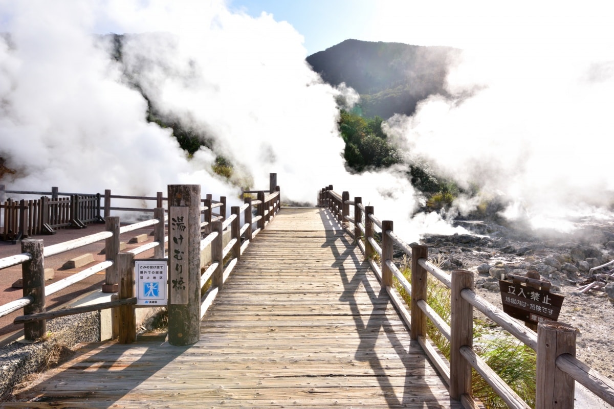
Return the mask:
<path id="1" fill-rule="evenodd" d="M 188 209 L 187 206 L 172 206 L 169 212 L 169 304 L 188 304 Z"/>

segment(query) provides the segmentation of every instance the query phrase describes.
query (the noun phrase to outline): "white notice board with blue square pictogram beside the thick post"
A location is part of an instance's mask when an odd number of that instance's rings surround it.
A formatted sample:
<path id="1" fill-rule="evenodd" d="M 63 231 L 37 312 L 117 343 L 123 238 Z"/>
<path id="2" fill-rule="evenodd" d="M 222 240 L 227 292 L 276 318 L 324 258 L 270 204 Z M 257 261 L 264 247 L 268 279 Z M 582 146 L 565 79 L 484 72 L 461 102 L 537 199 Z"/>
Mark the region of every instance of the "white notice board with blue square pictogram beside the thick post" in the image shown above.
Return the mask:
<path id="1" fill-rule="evenodd" d="M 168 261 L 147 259 L 134 261 L 136 305 L 166 305 Z"/>

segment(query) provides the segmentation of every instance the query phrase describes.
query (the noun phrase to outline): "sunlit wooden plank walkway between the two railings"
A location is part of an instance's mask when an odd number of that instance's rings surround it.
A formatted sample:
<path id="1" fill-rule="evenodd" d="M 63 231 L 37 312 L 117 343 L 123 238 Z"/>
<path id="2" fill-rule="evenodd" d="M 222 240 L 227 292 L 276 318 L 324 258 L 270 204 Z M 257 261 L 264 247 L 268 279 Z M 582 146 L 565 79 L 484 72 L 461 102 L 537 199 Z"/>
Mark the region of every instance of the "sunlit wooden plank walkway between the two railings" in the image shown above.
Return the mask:
<path id="1" fill-rule="evenodd" d="M 188 347 L 85 345 L 4 408 L 461 408 L 328 210 L 284 208 Z"/>

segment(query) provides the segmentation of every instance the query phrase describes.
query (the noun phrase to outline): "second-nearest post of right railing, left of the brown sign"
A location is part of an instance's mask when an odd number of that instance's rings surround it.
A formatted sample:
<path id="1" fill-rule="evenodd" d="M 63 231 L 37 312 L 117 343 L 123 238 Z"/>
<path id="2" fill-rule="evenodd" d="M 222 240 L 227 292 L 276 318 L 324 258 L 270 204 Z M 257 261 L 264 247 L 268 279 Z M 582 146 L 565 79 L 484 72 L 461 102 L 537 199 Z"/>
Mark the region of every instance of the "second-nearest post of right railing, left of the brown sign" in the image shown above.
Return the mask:
<path id="1" fill-rule="evenodd" d="M 462 395 L 472 396 L 471 365 L 461 354 L 461 346 L 473 347 L 473 306 L 461 291 L 473 289 L 473 273 L 467 270 L 452 272 L 450 317 L 450 397 L 461 400 Z"/>

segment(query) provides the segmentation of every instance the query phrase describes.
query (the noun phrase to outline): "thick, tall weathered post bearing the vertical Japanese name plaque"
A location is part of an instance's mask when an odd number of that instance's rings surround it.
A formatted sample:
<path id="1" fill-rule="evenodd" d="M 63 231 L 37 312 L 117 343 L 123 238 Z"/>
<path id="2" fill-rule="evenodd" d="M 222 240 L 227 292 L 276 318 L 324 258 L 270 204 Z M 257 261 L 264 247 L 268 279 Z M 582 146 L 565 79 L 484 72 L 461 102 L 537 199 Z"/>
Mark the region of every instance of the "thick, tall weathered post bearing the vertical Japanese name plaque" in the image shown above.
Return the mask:
<path id="1" fill-rule="evenodd" d="M 168 342 L 200 338 L 200 185 L 168 185 Z"/>

